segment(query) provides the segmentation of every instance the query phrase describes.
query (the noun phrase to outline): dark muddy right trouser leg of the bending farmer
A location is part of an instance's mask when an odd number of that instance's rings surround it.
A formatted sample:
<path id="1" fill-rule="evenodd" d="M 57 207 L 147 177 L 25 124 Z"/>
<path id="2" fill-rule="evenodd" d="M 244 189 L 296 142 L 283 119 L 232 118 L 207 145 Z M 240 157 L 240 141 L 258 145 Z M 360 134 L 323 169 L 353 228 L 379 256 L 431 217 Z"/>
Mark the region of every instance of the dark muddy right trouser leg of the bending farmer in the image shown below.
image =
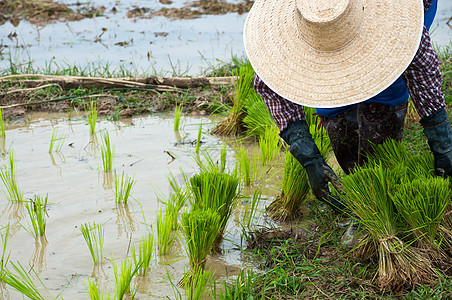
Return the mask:
<path id="1" fill-rule="evenodd" d="M 363 165 L 366 155 L 372 153 L 372 145 L 387 139 L 401 141 L 408 109 L 408 102 L 399 106 L 378 103 L 358 105 L 359 150 L 358 164 Z"/>

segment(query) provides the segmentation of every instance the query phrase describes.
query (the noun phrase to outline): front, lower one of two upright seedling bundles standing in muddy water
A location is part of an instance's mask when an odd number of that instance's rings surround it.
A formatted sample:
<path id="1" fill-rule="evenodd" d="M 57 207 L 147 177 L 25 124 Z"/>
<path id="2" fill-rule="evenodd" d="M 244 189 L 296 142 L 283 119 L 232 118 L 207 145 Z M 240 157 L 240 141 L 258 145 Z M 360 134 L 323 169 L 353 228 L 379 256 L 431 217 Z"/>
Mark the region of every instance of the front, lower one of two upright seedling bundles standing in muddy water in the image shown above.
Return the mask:
<path id="1" fill-rule="evenodd" d="M 185 237 L 190 269 L 204 269 L 207 254 L 221 230 L 221 216 L 206 210 L 185 211 L 181 215 L 182 233 Z"/>

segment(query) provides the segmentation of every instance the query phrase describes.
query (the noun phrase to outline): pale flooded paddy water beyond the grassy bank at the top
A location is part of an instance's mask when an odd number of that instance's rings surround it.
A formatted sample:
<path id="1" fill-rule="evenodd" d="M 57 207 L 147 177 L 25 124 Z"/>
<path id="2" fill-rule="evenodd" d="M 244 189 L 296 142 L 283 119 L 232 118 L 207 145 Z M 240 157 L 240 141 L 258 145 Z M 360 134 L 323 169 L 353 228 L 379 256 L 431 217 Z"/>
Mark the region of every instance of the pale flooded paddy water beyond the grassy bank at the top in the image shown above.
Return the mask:
<path id="1" fill-rule="evenodd" d="M 77 8 L 73 0 L 58 2 Z M 45 27 L 26 21 L 14 27 L 7 22 L 0 26 L 0 70 L 9 67 L 11 55 L 17 64 L 31 61 L 39 68 L 108 64 L 144 73 L 198 75 L 210 65 L 217 65 L 218 60 L 229 61 L 233 54 L 244 55 L 242 28 L 246 14 L 190 20 L 127 17 L 133 8 L 159 10 L 181 7 L 185 2 L 94 0 L 87 3 L 92 7 L 104 6 L 104 16 Z M 432 39 L 439 46 L 449 45 L 452 40 L 452 21 L 446 24 L 451 16 L 452 0 L 440 0 L 432 25 Z"/>

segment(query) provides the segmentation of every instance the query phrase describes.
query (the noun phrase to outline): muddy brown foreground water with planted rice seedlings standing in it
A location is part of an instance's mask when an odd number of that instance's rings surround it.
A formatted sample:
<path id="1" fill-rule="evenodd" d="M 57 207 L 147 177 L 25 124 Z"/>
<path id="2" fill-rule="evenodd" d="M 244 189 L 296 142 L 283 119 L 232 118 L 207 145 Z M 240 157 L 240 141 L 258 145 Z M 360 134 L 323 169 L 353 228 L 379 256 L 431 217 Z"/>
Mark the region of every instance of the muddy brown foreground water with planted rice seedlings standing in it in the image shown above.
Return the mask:
<path id="1" fill-rule="evenodd" d="M 19 188 L 26 199 L 36 194 L 49 197 L 46 235 L 35 239 L 25 230 L 31 227 L 24 206 L 11 204 L 1 195 L 0 225 L 3 228 L 10 223 L 7 247 L 7 251 L 11 251 L 10 261 L 33 265 L 51 298 L 61 294 L 65 299 L 87 299 L 85 284 L 89 276 L 113 291 L 110 260 L 124 257 L 131 242 L 139 241 L 155 227 L 155 214 L 163 207 L 159 195 L 165 198 L 170 191 L 167 176 L 171 172 L 181 178 L 181 170 L 188 174 L 198 172 L 193 162 L 195 145 L 190 142 L 196 139 L 200 123 L 205 129 L 201 149 L 209 151 L 213 158 L 219 157 L 223 142 L 208 134 L 212 120 L 207 118 L 186 117 L 179 134 L 173 130 L 173 119 L 165 116 L 138 117 L 117 123 L 100 121 L 96 127 L 97 142 L 89 134 L 84 118 L 75 114 L 70 120 L 68 115 L 36 114 L 8 124 L 3 153 L 14 150 Z M 61 151 L 50 155 L 54 128 L 66 139 Z M 108 131 L 114 145 L 114 168 L 136 179 L 132 190 L 134 200 L 127 206 L 115 203 L 114 184 L 102 171 L 100 131 Z M 176 159 L 172 160 L 165 151 Z M 234 151 L 230 147 L 228 162 L 234 163 Z M 6 166 L 7 163 L 8 156 L 2 155 L 0 164 Z M 269 197 L 277 193 L 276 182 L 261 182 L 264 199 L 260 210 L 268 204 Z M 3 189 L 3 185 L 0 186 Z M 237 250 L 237 245 L 241 245 L 239 224 L 248 208 L 246 201 L 239 202 L 228 224 L 223 254 L 209 258 L 208 266 L 212 266 L 220 278 L 237 274 L 249 264 Z M 105 226 L 106 260 L 96 268 L 79 230 L 85 222 Z M 265 222 L 262 215 L 258 215 L 255 223 L 262 222 Z M 153 260 L 146 278 L 137 279 L 137 298 L 174 298 L 167 272 L 173 282 L 177 282 L 187 267 L 185 250 L 177 241 L 170 255 Z M 10 287 L 2 287 L 0 291 L 3 299 L 20 297 Z"/>

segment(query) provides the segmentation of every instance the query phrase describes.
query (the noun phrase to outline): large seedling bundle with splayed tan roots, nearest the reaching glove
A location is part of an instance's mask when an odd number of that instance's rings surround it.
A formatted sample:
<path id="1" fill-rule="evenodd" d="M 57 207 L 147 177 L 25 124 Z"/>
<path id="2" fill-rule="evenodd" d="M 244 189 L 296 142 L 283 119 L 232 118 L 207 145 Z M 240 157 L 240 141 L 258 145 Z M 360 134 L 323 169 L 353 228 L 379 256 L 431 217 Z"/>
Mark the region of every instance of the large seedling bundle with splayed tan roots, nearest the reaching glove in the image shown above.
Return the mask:
<path id="1" fill-rule="evenodd" d="M 431 282 L 437 273 L 430 260 L 407 246 L 399 233 L 408 231 L 406 222 L 397 213 L 389 195 L 399 184 L 397 171 L 387 171 L 382 165 L 357 168 L 343 178 L 347 206 L 369 232 L 378 248 L 378 282 L 380 288 L 397 291 L 415 283 Z"/>

